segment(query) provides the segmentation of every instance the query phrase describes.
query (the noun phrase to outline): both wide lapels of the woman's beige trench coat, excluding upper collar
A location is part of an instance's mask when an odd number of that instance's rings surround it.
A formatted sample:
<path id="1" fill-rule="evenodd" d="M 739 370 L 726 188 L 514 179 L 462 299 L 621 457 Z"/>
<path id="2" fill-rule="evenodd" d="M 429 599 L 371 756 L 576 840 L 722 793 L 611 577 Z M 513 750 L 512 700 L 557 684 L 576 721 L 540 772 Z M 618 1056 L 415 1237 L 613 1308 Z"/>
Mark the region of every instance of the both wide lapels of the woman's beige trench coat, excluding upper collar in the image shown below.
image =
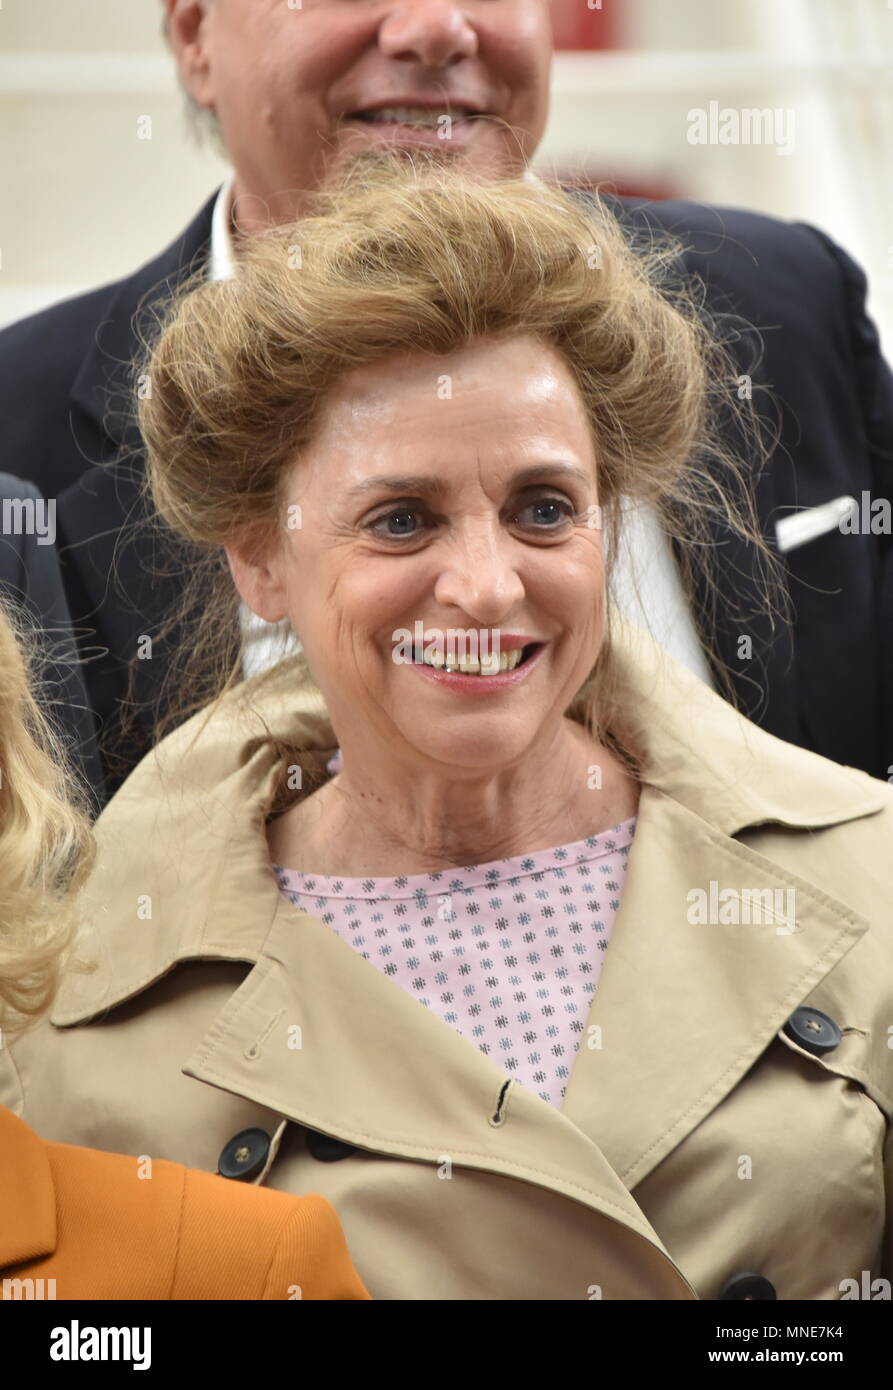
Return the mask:
<path id="1" fill-rule="evenodd" d="M 793 890 L 793 930 L 783 917 L 690 922 L 689 895 L 707 894 L 711 880 L 718 891 Z M 188 1076 L 357 1147 L 547 1182 L 647 1238 L 630 1190 L 734 1088 L 868 927 L 645 787 L 559 1111 L 516 1083 L 506 1090 L 508 1074 L 474 1044 L 270 891 L 277 901 L 260 910 L 253 895 L 256 920 L 273 919 L 260 959 L 185 1063 Z"/>

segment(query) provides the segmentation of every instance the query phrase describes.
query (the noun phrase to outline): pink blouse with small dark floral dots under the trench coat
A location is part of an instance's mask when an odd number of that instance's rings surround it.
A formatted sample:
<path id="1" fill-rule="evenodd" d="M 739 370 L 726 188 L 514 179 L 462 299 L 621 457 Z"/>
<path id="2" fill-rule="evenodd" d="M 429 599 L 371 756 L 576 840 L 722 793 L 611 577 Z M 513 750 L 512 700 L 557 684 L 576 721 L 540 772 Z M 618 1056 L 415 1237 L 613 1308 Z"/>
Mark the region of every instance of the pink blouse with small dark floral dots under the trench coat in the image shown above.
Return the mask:
<path id="1" fill-rule="evenodd" d="M 634 830 L 399 878 L 274 870 L 289 902 L 561 1106 Z"/>

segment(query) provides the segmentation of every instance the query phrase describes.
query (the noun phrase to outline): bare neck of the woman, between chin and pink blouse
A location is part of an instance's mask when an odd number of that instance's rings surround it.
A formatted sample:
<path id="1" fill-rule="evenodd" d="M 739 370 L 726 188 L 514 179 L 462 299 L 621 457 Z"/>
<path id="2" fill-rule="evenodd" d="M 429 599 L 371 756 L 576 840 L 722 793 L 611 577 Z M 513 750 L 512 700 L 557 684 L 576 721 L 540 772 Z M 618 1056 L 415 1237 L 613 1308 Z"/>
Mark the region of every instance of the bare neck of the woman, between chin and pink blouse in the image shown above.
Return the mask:
<path id="1" fill-rule="evenodd" d="M 636 815 L 623 762 L 563 720 L 548 756 L 438 787 L 381 785 L 345 770 L 267 826 L 274 863 L 351 878 L 434 873 L 512 859 L 598 834 Z"/>

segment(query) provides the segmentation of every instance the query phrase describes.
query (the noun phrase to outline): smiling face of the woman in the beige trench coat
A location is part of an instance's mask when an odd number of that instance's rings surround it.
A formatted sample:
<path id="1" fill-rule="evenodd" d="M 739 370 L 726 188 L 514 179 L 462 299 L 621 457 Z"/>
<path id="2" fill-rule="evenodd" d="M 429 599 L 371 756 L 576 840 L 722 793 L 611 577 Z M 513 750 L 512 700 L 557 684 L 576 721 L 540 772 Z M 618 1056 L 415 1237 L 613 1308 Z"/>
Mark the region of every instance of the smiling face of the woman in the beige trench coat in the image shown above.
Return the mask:
<path id="1" fill-rule="evenodd" d="M 498 771 L 555 728 L 602 642 L 604 566 L 587 418 L 554 349 L 517 336 L 352 371 L 285 484 L 275 545 L 230 563 L 255 613 L 291 620 L 345 766 L 388 749 Z M 451 674 L 395 660 L 417 623 L 427 644 L 541 645 L 512 674 Z"/>

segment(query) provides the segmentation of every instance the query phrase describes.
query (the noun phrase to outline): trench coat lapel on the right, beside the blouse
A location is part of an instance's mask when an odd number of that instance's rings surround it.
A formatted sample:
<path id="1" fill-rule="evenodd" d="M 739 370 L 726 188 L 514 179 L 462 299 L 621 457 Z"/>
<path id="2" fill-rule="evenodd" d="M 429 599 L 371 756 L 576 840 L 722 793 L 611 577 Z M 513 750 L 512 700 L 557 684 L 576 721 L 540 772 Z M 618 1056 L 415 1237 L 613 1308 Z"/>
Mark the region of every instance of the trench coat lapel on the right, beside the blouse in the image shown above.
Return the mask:
<path id="1" fill-rule="evenodd" d="M 698 923 L 690 894 L 708 897 L 711 881 L 708 915 L 719 920 Z M 793 930 L 785 916 L 748 923 L 734 901 L 716 912 L 727 890 L 778 890 L 778 905 L 793 890 Z M 867 927 L 844 903 L 645 788 L 588 1020 L 595 1045 L 577 1054 L 565 1115 L 598 1136 L 636 1187 L 737 1086 Z"/>

